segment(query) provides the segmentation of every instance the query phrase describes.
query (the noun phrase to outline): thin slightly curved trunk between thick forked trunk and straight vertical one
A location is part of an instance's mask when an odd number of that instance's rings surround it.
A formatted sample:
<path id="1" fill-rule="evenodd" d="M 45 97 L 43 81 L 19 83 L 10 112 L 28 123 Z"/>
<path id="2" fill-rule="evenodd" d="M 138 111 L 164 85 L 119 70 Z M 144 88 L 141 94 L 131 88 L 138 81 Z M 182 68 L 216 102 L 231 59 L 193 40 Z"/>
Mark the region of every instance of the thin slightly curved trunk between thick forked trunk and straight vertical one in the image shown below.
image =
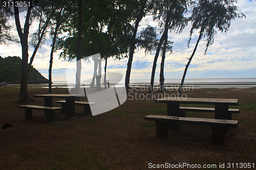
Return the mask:
<path id="1" fill-rule="evenodd" d="M 51 94 L 52 93 L 52 63 L 53 63 L 53 53 L 54 53 L 54 48 L 55 48 L 55 42 L 56 42 L 56 38 L 57 38 L 57 32 L 59 29 L 59 20 L 57 20 L 56 22 L 56 27 L 54 30 L 54 35 L 53 35 L 53 41 L 52 41 L 52 49 L 51 49 L 51 55 L 50 55 L 50 65 L 49 65 L 49 89 L 48 89 L 48 93 Z"/>

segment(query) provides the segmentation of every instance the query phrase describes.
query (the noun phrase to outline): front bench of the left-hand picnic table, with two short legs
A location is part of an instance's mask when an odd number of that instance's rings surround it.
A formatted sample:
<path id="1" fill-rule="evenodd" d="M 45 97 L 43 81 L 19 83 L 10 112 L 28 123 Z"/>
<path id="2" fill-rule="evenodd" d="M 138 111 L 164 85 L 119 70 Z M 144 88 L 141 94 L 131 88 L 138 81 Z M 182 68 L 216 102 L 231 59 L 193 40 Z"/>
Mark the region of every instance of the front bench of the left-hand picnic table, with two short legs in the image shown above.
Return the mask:
<path id="1" fill-rule="evenodd" d="M 36 106 L 36 105 L 20 105 L 18 107 L 25 109 L 25 119 L 32 119 L 32 109 L 45 110 L 48 122 L 51 122 L 55 119 L 55 111 L 62 110 L 61 107 L 48 107 L 48 106 Z"/>

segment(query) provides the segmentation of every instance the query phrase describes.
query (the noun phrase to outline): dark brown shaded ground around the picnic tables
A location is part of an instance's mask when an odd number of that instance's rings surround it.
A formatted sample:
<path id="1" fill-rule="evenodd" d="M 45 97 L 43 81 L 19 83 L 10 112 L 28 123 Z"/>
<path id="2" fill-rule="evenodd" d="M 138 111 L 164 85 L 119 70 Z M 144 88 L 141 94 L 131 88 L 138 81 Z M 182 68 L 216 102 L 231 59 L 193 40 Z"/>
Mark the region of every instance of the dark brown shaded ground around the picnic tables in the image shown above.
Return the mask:
<path id="1" fill-rule="evenodd" d="M 29 95 L 47 93 L 45 88 L 29 88 Z M 146 94 L 146 91 L 134 91 Z M 68 93 L 55 88 L 53 93 Z M 167 93 L 177 93 L 168 91 Z M 154 100 L 127 100 L 109 112 L 84 115 L 76 106 L 76 119 L 57 112 L 48 123 L 43 111 L 33 111 L 33 119 L 24 119 L 24 109 L 14 103 L 19 88 L 0 88 L 0 169 L 148 169 L 153 164 L 254 163 L 256 166 L 256 88 L 195 89 L 184 91 L 193 98 L 239 99 L 238 128 L 230 128 L 224 145 L 211 144 L 209 126 L 181 125 L 169 131 L 167 139 L 156 138 L 154 122 L 148 114 L 166 115 L 166 104 Z M 158 93 L 157 93 L 158 94 Z M 130 98 L 131 99 L 131 98 Z M 55 104 L 54 106 L 59 106 Z M 35 98 L 29 104 L 43 105 Z M 211 106 L 212 107 L 212 106 Z M 187 116 L 213 117 L 214 113 L 189 112 Z M 184 167 L 183 169 L 188 169 Z M 195 168 L 194 168 L 195 169 Z M 232 169 L 232 168 L 231 168 Z M 234 166 L 233 169 L 240 169 Z"/>

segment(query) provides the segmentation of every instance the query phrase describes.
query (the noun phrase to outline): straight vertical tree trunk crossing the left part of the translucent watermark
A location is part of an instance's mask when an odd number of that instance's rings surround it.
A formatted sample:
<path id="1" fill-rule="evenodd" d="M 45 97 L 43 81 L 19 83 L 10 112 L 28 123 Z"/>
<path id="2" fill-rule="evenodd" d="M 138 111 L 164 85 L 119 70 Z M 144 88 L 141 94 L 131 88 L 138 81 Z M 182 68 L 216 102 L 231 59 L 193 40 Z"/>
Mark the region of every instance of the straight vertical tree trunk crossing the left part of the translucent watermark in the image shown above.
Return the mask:
<path id="1" fill-rule="evenodd" d="M 78 29 L 77 29 L 77 58 L 76 58 L 76 93 L 80 91 L 81 55 L 82 55 L 82 0 L 78 0 Z"/>

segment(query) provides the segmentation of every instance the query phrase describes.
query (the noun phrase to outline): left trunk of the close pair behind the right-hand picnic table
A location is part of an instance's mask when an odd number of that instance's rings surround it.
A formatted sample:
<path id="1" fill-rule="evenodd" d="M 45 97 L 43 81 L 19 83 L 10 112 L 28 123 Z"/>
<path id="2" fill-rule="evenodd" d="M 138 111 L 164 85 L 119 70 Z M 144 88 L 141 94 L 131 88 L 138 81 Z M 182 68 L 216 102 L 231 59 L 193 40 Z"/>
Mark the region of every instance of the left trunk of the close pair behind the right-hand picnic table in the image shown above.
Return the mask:
<path id="1" fill-rule="evenodd" d="M 157 47 L 157 51 L 156 51 L 156 55 L 155 55 L 155 58 L 154 58 L 154 62 L 153 62 L 149 93 L 153 91 L 155 72 L 156 72 L 156 67 L 157 67 L 157 59 L 158 59 L 158 56 L 159 56 L 159 53 L 160 53 L 160 50 L 161 50 L 162 43 L 163 43 L 163 41 L 166 37 L 166 34 L 168 33 L 170 14 L 171 14 L 170 11 L 167 11 L 167 18 L 165 20 L 164 32 L 163 32 L 163 35 L 160 38 L 160 41 L 159 41 L 159 44 L 158 44 L 158 47 Z"/>

